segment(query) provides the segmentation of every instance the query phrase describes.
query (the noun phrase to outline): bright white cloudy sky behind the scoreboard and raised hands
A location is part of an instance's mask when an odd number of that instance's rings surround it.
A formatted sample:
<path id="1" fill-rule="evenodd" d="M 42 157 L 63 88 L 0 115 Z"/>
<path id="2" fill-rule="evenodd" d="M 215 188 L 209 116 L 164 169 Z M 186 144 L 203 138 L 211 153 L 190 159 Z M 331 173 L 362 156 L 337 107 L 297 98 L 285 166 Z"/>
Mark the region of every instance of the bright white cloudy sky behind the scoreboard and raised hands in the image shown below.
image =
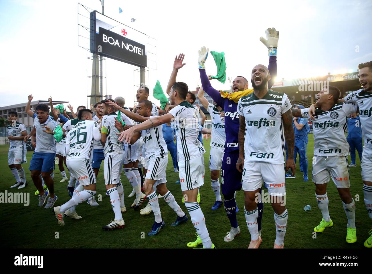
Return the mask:
<path id="1" fill-rule="evenodd" d="M 102 11 L 99 0 L 0 2 L 0 106 L 25 103 L 28 94 L 34 100 L 51 95 L 53 100 L 69 101 L 74 110 L 86 105 L 86 58 L 91 54 L 77 45 L 78 2 Z M 200 47 L 225 52 L 228 77 L 248 78 L 253 66 L 268 64 L 267 48 L 259 37 L 269 27 L 280 32 L 280 79 L 356 71 L 357 64 L 371 61 L 372 1 L 324 2 L 105 0 L 105 15 L 157 39 L 151 91 L 156 80 L 165 91 L 179 53 L 186 55 L 186 65 L 177 80 L 195 90 Z M 131 23 L 131 18 L 137 21 Z M 106 65 L 107 94 L 123 96 L 126 106 L 133 106 L 136 67 L 110 59 Z M 212 56 L 206 71 L 216 73 Z M 230 88 L 228 81 L 214 80 L 212 85 Z"/>

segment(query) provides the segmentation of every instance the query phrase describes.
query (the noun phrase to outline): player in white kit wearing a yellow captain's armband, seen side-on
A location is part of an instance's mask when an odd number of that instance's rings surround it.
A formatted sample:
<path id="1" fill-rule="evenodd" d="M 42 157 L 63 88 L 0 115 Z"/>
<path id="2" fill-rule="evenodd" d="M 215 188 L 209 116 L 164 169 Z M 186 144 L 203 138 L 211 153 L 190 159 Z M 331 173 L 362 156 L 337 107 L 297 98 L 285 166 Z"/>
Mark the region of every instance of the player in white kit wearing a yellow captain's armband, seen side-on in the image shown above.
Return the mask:
<path id="1" fill-rule="evenodd" d="M 102 107 L 102 128 L 101 128 L 101 143 L 103 145 L 103 153 L 105 160 L 103 162 L 103 176 L 105 177 L 106 190 L 109 193 L 112 210 L 115 213 L 115 219 L 107 226 L 103 226 L 103 230 L 113 230 L 123 228 L 125 223 L 122 217 L 122 212 L 126 211 L 124 204 L 124 188 L 120 182 L 122 165 L 125 160 L 124 144 L 118 140 L 118 130 L 115 127 L 115 120 L 118 115 L 115 113 L 115 108 L 106 104 L 112 99 L 101 101 Z M 114 102 L 115 103 L 115 102 Z"/>

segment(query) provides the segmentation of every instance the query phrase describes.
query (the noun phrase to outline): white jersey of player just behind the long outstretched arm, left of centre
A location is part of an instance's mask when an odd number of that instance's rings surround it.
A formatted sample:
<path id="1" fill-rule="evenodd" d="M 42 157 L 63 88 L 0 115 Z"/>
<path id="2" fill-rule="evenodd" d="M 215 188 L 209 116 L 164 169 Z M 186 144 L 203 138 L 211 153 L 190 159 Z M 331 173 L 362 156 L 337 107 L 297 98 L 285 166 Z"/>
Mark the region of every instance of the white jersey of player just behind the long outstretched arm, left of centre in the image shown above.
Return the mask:
<path id="1" fill-rule="evenodd" d="M 156 117 L 156 115 L 150 116 L 150 118 L 153 117 Z M 138 124 L 140 124 L 140 122 L 138 122 L 137 125 Z M 146 152 L 145 157 L 147 159 L 153 156 L 160 158 L 168 157 L 168 148 L 163 137 L 163 125 L 141 130 L 141 136 Z"/>

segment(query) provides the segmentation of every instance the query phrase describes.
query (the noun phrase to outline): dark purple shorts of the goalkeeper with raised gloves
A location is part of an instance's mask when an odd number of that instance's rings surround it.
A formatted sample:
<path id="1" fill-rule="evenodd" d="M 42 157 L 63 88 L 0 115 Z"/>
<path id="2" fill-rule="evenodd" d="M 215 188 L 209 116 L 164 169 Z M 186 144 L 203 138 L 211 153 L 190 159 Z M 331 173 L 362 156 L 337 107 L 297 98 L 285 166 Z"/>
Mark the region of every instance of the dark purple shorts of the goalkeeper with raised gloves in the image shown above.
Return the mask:
<path id="1" fill-rule="evenodd" d="M 241 189 L 242 174 L 236 169 L 239 151 L 225 152 L 221 166 L 221 190 L 222 195 L 234 195 Z"/>

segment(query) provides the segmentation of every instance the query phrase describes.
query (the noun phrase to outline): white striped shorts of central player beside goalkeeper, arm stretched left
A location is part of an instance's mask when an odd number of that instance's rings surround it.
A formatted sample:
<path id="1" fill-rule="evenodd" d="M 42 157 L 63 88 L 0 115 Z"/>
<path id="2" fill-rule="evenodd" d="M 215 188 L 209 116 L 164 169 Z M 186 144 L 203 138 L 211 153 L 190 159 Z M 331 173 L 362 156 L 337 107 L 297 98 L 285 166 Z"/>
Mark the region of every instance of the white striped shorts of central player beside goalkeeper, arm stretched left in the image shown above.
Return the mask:
<path id="1" fill-rule="evenodd" d="M 190 190 L 204 185 L 203 155 L 188 161 L 178 162 L 181 190 Z"/>

